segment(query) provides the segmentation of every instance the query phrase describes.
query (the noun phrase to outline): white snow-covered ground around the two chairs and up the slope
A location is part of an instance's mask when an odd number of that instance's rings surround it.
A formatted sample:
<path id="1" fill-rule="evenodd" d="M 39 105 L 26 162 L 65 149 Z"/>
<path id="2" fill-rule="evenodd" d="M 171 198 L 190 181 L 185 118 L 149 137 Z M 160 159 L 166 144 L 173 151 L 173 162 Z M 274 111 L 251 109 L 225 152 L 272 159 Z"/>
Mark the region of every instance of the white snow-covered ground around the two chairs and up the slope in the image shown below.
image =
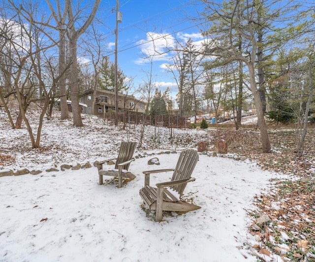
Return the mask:
<path id="1" fill-rule="evenodd" d="M 12 130 L 0 115 L 1 154 L 15 161 L 1 169 L 37 168 L 39 175 L 0 177 L 1 262 L 256 262 L 248 213 L 260 192 L 280 175 L 259 169 L 249 160 L 199 155 L 184 198 L 201 206 L 185 214 L 165 212 L 160 223 L 143 208 L 139 189 L 145 170 L 173 168 L 179 152 L 211 140 L 204 130 L 149 129 L 142 155 L 131 163 L 136 178 L 117 188 L 110 178 L 98 185 L 97 169 L 46 172 L 52 165 L 81 163 L 117 155 L 120 142 L 138 142 L 137 129 L 120 130 L 85 117 L 85 127 L 70 121 L 46 120 L 42 147 L 31 149 L 25 129 Z M 165 150 L 178 153 L 158 154 Z M 155 155 L 147 155 L 146 153 Z M 148 165 L 158 157 L 160 165 Z M 151 185 L 168 181 L 171 173 L 155 174 Z M 259 241 L 259 240 L 258 240 Z M 277 257 L 278 262 L 281 258 Z M 268 260 L 267 260 L 268 261 Z M 271 260 L 269 260 L 271 261 Z"/>

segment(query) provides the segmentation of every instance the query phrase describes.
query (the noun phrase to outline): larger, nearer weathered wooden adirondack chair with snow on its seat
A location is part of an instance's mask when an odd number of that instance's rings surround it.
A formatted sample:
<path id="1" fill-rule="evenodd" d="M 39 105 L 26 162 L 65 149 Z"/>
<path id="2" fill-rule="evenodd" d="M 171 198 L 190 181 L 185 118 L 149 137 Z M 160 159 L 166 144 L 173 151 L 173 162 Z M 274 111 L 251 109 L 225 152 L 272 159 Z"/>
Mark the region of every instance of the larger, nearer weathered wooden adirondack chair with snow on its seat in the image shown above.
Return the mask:
<path id="1" fill-rule="evenodd" d="M 184 189 L 188 182 L 195 178 L 191 174 L 198 161 L 198 152 L 193 149 L 182 151 L 175 169 L 160 169 L 144 171 L 144 187 L 140 189 L 140 196 L 150 210 L 157 210 L 156 221 L 162 220 L 162 211 L 192 211 L 201 208 L 181 200 Z M 151 187 L 150 174 L 174 171 L 171 181 L 156 184 Z M 175 192 L 174 192 L 175 191 Z"/>

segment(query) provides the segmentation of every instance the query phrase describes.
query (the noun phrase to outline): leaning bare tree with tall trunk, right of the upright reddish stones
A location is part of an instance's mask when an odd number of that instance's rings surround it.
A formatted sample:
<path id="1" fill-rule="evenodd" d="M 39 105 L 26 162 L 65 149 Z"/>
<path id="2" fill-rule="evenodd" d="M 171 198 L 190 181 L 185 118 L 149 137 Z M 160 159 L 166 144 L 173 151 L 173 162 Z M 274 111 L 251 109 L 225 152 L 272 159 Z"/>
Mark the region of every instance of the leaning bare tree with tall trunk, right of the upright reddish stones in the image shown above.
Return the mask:
<path id="1" fill-rule="evenodd" d="M 218 20 L 225 21 L 229 33 L 222 35 L 220 31 L 213 31 L 210 28 L 204 32 L 209 39 L 212 39 L 207 43 L 205 47 L 205 54 L 209 56 L 217 56 L 221 58 L 229 58 L 233 60 L 242 61 L 246 64 L 249 73 L 250 88 L 253 94 L 253 98 L 256 105 L 258 126 L 260 129 L 260 137 L 263 152 L 269 153 L 271 150 L 267 125 L 264 119 L 263 104 L 260 99 L 259 90 L 256 86 L 256 74 L 255 74 L 255 62 L 257 55 L 257 39 L 255 34 L 257 8 L 249 1 L 242 1 L 242 8 L 240 7 L 241 1 L 236 0 L 229 3 L 231 11 L 227 9 L 222 10 L 215 2 L 205 1 L 205 5 L 212 15 L 216 16 Z M 223 6 L 227 8 L 227 6 Z M 244 15 L 240 15 L 240 12 Z M 240 17 L 242 19 L 240 19 Z M 237 34 L 235 34 L 237 32 Z M 236 35 L 236 36 L 235 36 Z M 246 52 L 240 52 L 237 48 L 239 41 L 238 35 L 242 36 L 245 40 L 243 50 Z M 214 38 L 214 36 L 216 38 Z"/>

